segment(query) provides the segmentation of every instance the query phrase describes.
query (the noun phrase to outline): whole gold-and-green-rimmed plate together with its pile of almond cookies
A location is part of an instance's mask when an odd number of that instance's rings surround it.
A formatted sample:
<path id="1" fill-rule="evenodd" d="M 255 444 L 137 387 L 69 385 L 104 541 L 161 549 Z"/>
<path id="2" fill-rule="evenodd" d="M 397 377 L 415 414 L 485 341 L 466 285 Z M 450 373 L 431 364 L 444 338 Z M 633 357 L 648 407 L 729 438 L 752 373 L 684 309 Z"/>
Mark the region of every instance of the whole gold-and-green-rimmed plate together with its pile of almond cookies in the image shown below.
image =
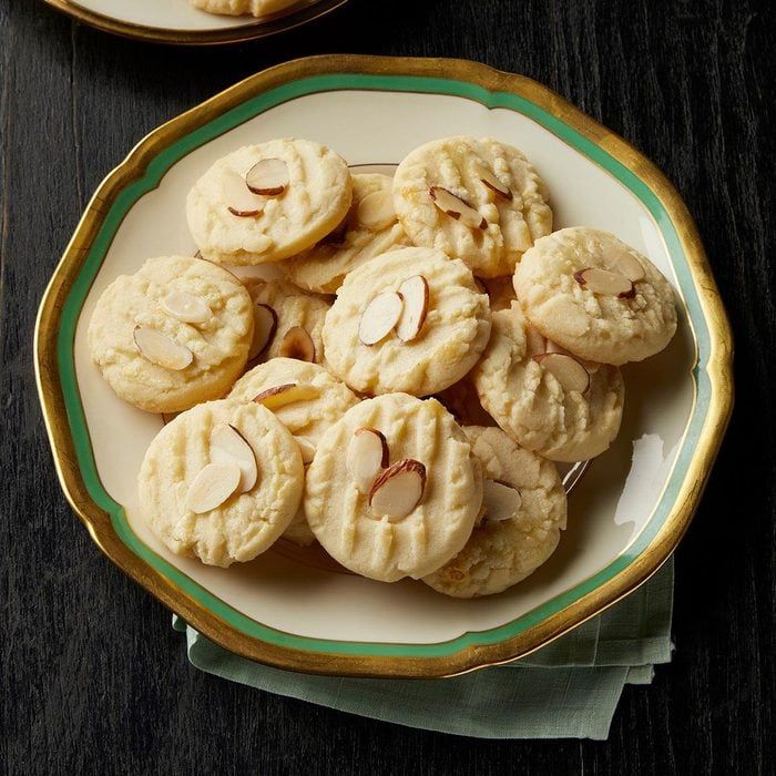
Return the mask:
<path id="1" fill-rule="evenodd" d="M 528 79 L 318 57 L 154 131 L 41 304 L 63 490 L 193 627 L 450 676 L 626 595 L 686 530 L 732 343 L 637 151 Z"/>

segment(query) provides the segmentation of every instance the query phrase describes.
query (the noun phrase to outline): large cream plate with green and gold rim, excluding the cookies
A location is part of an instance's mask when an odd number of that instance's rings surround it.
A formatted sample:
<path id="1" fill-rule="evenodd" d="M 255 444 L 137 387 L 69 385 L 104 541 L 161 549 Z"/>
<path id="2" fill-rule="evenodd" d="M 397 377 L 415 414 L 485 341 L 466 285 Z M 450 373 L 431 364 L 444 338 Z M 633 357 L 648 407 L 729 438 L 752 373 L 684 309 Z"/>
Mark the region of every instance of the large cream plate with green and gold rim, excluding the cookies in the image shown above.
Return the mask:
<path id="1" fill-rule="evenodd" d="M 102 290 L 150 256 L 195 252 L 186 193 L 241 145 L 296 135 L 354 165 L 395 164 L 426 141 L 459 133 L 522 149 L 549 186 L 559 227 L 614 232 L 677 292 L 677 335 L 655 358 L 624 368 L 620 437 L 576 486 L 559 550 L 525 582 L 474 601 L 274 550 L 227 570 L 169 553 L 137 517 L 135 488 L 162 421 L 118 399 L 89 358 L 86 326 Z M 729 412 L 726 326 L 692 221 L 670 184 L 557 95 L 471 63 L 314 58 L 259 73 L 164 125 L 109 176 L 41 306 L 38 357 L 71 502 L 103 550 L 195 627 L 284 667 L 432 676 L 525 654 L 668 557 Z"/>

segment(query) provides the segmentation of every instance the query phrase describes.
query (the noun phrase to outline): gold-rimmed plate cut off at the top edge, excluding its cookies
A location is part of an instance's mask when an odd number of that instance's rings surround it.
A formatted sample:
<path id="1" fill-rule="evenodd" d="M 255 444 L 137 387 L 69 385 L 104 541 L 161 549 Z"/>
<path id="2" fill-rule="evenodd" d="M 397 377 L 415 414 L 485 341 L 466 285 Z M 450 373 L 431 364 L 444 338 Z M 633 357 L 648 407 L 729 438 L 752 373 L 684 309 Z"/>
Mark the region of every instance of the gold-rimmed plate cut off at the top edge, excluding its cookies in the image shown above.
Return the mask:
<path id="1" fill-rule="evenodd" d="M 317 19 L 347 0 L 297 0 L 266 17 L 206 13 L 188 0 L 43 0 L 92 27 L 129 38 L 180 44 L 234 43 L 265 38 Z"/>

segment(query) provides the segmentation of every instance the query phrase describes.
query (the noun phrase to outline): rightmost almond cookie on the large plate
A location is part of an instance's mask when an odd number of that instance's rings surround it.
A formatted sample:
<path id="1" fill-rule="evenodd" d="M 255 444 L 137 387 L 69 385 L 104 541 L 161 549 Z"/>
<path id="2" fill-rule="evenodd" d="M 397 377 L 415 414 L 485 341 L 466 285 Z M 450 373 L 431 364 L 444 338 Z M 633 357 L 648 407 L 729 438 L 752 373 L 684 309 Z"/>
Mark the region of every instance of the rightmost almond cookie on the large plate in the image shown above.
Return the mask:
<path id="1" fill-rule="evenodd" d="M 514 273 L 514 290 L 535 328 L 591 361 L 641 361 L 676 331 L 665 277 L 600 229 L 575 226 L 539 241 Z"/>

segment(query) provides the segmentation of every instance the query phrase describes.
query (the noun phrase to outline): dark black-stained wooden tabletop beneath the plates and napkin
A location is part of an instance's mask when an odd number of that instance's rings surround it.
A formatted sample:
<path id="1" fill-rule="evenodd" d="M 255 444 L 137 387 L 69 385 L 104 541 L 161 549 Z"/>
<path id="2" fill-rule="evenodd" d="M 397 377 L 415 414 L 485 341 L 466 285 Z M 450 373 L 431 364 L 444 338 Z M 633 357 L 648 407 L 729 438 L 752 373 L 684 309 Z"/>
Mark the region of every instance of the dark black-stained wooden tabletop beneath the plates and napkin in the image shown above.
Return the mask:
<path id="1" fill-rule="evenodd" d="M 353 0 L 270 41 L 182 50 L 0 0 L 3 773 L 774 773 L 768 6 Z M 103 559 L 60 493 L 32 330 L 89 195 L 161 122 L 262 68 L 325 52 L 461 57 L 538 79 L 642 149 L 697 219 L 736 334 L 738 402 L 677 552 L 675 660 L 652 686 L 626 687 L 606 743 L 456 738 L 202 674 L 169 613 Z"/>

